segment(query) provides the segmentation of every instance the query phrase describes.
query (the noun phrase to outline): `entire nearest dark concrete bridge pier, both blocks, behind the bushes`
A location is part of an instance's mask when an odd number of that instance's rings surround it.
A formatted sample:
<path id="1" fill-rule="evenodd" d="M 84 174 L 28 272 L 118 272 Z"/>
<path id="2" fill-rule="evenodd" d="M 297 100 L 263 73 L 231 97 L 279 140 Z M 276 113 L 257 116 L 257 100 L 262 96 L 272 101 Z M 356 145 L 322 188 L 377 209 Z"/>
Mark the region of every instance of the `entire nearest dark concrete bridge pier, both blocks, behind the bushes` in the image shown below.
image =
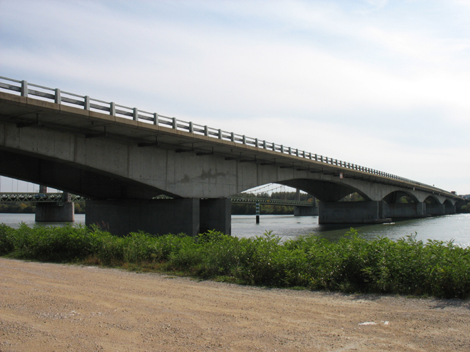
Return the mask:
<path id="1" fill-rule="evenodd" d="M 139 230 L 189 236 L 231 232 L 230 199 L 92 199 L 85 212 L 86 225 L 99 225 L 116 236 Z"/>

